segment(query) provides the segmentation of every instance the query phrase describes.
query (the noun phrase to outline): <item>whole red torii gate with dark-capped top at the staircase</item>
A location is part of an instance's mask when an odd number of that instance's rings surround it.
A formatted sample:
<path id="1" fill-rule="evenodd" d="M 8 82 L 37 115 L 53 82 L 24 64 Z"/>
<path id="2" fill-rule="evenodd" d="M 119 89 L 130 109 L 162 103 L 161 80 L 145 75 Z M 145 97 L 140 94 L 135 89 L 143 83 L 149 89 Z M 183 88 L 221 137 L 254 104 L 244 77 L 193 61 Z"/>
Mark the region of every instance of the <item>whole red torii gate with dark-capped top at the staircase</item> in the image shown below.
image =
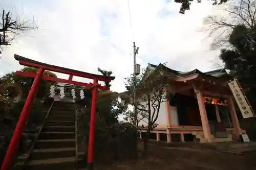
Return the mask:
<path id="1" fill-rule="evenodd" d="M 89 132 L 88 160 L 87 160 L 89 169 L 92 169 L 93 168 L 93 156 L 94 156 L 94 136 L 95 136 L 97 88 L 110 90 L 109 87 L 99 85 L 98 81 L 111 82 L 112 80 L 115 79 L 115 77 L 110 77 L 110 76 L 106 77 L 106 76 L 102 76 L 102 75 L 95 75 L 95 74 L 90 74 L 88 72 L 82 72 L 82 71 L 73 70 L 73 69 L 69 69 L 69 68 L 59 67 L 59 66 L 55 66 L 55 65 L 46 64 L 46 63 L 41 63 L 41 62 L 38 62 L 35 60 L 31 60 L 31 59 L 16 55 L 16 54 L 14 54 L 14 58 L 15 58 L 15 60 L 19 61 L 20 65 L 38 68 L 38 71 L 37 71 L 37 73 L 16 71 L 16 75 L 31 77 L 31 78 L 35 78 L 35 79 L 31 86 L 31 90 L 28 94 L 28 97 L 27 97 L 26 103 L 23 107 L 22 113 L 20 113 L 19 120 L 18 120 L 18 123 L 14 130 L 14 133 L 13 133 L 11 142 L 9 144 L 5 159 L 3 161 L 1 170 L 8 170 L 11 166 L 11 163 L 13 161 L 15 151 L 17 149 L 20 137 L 22 136 L 22 132 L 26 125 L 26 122 L 27 122 L 27 119 L 29 116 L 29 112 L 31 110 L 33 101 L 34 101 L 36 93 L 38 91 L 40 80 L 68 83 L 68 84 L 74 84 L 74 85 L 78 85 L 78 86 L 86 86 L 86 87 L 93 88 L 91 119 L 90 119 L 90 132 Z M 66 79 L 59 79 L 59 78 L 44 76 L 45 70 L 55 71 L 55 72 L 59 72 L 62 74 L 67 74 L 67 75 L 69 75 L 69 79 L 66 80 Z M 73 76 L 93 79 L 93 83 L 83 83 L 83 82 L 73 81 L 72 80 Z"/>

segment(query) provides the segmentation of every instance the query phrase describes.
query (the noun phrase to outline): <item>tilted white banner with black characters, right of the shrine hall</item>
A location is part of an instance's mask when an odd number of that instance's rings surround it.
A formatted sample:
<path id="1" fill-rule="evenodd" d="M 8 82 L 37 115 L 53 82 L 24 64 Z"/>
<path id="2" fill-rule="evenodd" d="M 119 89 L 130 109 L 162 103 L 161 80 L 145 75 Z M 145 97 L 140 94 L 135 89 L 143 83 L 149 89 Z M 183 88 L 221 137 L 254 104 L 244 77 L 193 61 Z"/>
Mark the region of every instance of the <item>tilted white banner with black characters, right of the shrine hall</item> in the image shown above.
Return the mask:
<path id="1" fill-rule="evenodd" d="M 228 85 L 234 95 L 234 99 L 236 99 L 236 102 L 239 106 L 239 109 L 243 115 L 244 118 L 253 117 L 253 111 L 250 105 L 248 104 L 246 100 L 246 96 L 242 92 L 242 89 L 239 86 L 239 83 L 237 79 L 234 79 L 230 82 L 228 82 Z"/>

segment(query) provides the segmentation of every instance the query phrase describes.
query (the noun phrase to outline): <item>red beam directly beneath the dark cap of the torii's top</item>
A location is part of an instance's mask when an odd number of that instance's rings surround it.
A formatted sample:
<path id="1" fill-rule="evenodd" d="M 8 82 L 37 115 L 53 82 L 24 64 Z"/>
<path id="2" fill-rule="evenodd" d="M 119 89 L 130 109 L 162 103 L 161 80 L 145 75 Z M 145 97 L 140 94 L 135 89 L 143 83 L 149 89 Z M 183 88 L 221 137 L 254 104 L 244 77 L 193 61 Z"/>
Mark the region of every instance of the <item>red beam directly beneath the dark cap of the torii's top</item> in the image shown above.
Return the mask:
<path id="1" fill-rule="evenodd" d="M 72 76 L 78 76 L 78 77 L 83 77 L 83 78 L 88 78 L 88 79 L 95 79 L 96 78 L 99 81 L 111 82 L 110 78 L 101 78 L 101 77 L 97 77 L 97 76 L 94 76 L 94 75 L 82 74 L 80 72 L 73 72 L 73 71 L 64 70 L 64 69 L 60 69 L 60 68 L 55 68 L 55 67 L 40 65 L 40 64 L 36 64 L 36 63 L 31 63 L 31 62 L 27 62 L 27 61 L 23 61 L 23 60 L 19 60 L 19 64 L 20 65 L 31 66 L 31 67 L 35 67 L 35 68 L 44 68 L 45 70 L 60 72 L 62 74 L 67 74 L 67 75 L 72 75 Z"/>

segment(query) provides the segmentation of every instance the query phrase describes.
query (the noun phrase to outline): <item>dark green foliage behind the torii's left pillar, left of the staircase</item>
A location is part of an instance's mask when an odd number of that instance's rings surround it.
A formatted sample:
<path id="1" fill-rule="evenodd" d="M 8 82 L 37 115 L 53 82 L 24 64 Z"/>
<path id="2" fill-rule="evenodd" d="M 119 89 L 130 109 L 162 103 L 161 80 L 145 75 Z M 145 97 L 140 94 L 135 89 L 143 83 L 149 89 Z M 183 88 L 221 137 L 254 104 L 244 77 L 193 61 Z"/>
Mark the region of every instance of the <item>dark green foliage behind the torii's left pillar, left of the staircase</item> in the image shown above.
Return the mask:
<path id="1" fill-rule="evenodd" d="M 37 71 L 37 69 L 31 67 L 24 67 L 22 70 L 25 72 Z M 56 75 L 50 71 L 45 71 L 44 74 L 56 77 Z M 12 133 L 26 102 L 32 82 L 33 79 L 17 76 L 15 75 L 15 72 L 11 72 L 10 74 L 6 74 L 0 78 L 0 135 L 2 136 L 3 142 L 0 143 L 0 145 L 3 144 L 0 146 L 0 164 L 5 156 Z M 27 153 L 27 151 L 30 149 L 31 142 L 34 139 L 34 135 L 38 131 L 39 125 L 41 125 L 45 119 L 44 109 L 47 110 L 49 108 L 43 108 L 45 105 L 41 103 L 41 99 L 48 95 L 49 87 L 52 84 L 53 82 L 47 82 L 44 80 L 40 82 L 38 95 L 36 96 L 34 104 L 31 108 L 28 122 L 24 129 L 24 132 L 29 133 L 29 136 L 31 137 L 28 137 L 27 134 L 22 136 L 22 140 L 20 141 L 18 148 L 18 154 Z M 14 98 L 19 93 L 23 94 L 23 98 L 21 98 L 19 102 L 14 103 Z"/>

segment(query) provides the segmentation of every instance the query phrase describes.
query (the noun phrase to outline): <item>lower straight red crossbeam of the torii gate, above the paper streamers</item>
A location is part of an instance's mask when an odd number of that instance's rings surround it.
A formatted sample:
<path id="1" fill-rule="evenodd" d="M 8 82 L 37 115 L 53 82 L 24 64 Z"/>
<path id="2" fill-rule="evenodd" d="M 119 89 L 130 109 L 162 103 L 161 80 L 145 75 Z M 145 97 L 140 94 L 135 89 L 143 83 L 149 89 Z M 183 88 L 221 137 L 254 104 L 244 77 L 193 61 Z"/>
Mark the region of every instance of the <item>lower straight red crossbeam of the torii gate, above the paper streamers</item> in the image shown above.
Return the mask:
<path id="1" fill-rule="evenodd" d="M 36 72 L 16 71 L 16 75 L 35 78 L 36 77 Z M 50 76 L 42 76 L 41 79 L 42 80 L 47 80 L 47 81 L 53 81 L 53 82 L 61 82 L 61 83 L 67 83 L 67 84 L 74 84 L 74 85 L 77 85 L 77 86 L 93 87 L 93 83 L 77 82 L 77 81 L 73 81 L 71 79 L 66 80 L 66 79 L 59 79 L 59 78 L 50 77 Z M 97 85 L 97 88 L 104 89 L 104 90 L 110 90 L 109 87 L 101 86 L 101 85 Z"/>

